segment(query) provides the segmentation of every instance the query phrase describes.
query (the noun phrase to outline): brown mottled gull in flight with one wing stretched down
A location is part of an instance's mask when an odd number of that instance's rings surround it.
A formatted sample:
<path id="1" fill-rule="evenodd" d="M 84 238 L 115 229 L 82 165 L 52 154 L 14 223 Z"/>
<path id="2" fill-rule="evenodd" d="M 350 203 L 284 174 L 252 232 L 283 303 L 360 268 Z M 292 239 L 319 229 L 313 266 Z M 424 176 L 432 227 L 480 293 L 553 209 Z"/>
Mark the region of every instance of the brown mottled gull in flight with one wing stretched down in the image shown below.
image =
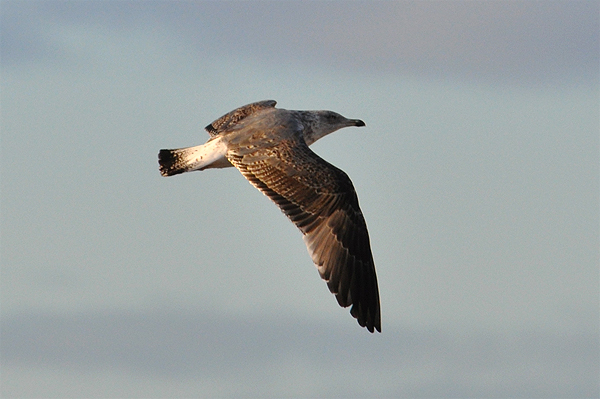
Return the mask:
<path id="1" fill-rule="evenodd" d="M 205 144 L 160 150 L 163 176 L 234 166 L 300 229 L 321 278 L 340 306 L 370 332 L 381 332 L 379 289 L 369 233 L 344 171 L 309 146 L 348 126 L 332 111 L 275 108 L 273 100 L 237 108 L 206 126 Z"/>

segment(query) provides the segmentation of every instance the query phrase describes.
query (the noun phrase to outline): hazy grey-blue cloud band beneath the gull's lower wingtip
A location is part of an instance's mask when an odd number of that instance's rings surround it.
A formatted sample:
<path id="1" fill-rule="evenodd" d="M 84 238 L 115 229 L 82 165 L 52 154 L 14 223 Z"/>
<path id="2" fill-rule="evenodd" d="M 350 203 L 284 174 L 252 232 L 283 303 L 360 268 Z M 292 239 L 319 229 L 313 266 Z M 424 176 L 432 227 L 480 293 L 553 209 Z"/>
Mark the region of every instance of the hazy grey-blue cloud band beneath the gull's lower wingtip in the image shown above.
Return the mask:
<path id="1" fill-rule="evenodd" d="M 593 331 L 454 334 L 389 326 L 371 335 L 346 327 L 165 309 L 20 314 L 2 320 L 3 379 L 20 369 L 59 369 L 79 381 L 63 386 L 63 395 L 81 392 L 83 386 L 90 397 L 108 391 L 93 388 L 93 378 L 86 381 L 86 376 L 107 371 L 131 381 L 159 379 L 171 385 L 208 379 L 224 396 L 598 394 L 599 348 Z M 35 388 L 31 384 L 44 383 L 35 381 L 28 382 L 29 390 Z M 10 396 L 5 381 L 2 386 Z M 41 385 L 37 389 L 44 392 Z"/>

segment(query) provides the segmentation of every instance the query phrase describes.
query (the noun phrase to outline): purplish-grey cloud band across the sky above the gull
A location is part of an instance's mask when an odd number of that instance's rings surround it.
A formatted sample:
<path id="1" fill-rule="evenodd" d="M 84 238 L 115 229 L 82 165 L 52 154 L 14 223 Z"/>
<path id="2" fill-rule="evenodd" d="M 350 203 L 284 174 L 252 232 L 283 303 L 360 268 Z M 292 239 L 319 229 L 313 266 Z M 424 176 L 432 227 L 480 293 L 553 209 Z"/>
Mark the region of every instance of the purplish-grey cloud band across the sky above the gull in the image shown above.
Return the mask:
<path id="1" fill-rule="evenodd" d="M 5 6 L 4 62 L 60 43 L 44 26 L 147 30 L 202 57 L 500 81 L 596 78 L 599 5 L 581 2 L 135 2 Z M 41 24 L 40 24 L 41 22 Z M 173 34 L 173 36 L 170 36 Z M 50 42 L 49 42 L 50 40 Z M 25 45 L 24 45 L 25 44 Z M 163 43 L 169 45 L 168 43 Z"/>

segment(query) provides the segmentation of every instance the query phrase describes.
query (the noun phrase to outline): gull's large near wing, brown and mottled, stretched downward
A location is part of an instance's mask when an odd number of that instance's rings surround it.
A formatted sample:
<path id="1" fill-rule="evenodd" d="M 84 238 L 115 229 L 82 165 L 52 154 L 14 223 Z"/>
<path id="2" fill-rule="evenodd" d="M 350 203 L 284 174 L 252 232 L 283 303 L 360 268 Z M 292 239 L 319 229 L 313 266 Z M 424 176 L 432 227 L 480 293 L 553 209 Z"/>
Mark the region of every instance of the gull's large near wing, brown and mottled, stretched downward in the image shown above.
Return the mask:
<path id="1" fill-rule="evenodd" d="M 230 148 L 229 161 L 302 231 L 321 277 L 358 323 L 381 332 L 379 290 L 369 233 L 350 178 L 283 135 L 267 146 Z"/>

